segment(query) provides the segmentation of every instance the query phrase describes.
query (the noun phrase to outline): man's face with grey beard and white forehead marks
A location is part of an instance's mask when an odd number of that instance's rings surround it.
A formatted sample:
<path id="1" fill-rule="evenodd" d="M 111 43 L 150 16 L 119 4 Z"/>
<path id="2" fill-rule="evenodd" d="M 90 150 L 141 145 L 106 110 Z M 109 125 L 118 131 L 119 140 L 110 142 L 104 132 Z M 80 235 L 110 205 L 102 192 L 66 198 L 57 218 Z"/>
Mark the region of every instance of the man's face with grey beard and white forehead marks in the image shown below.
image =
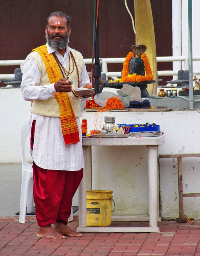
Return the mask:
<path id="1" fill-rule="evenodd" d="M 69 43 L 69 35 L 71 28 L 67 28 L 67 20 L 65 17 L 52 16 L 46 27 L 46 39 L 48 44 L 55 50 L 65 48 Z"/>

